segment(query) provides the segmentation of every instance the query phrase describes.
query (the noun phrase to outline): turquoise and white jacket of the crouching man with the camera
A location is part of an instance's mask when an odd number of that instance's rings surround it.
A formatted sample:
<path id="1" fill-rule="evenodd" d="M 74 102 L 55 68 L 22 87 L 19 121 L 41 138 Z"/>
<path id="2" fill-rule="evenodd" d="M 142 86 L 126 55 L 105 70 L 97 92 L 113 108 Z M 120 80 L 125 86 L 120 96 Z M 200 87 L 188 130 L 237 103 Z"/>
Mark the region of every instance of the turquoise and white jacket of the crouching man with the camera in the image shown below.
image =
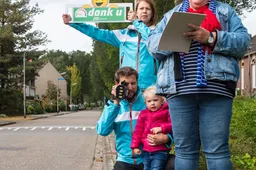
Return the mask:
<path id="1" fill-rule="evenodd" d="M 132 103 L 127 100 L 121 100 L 119 105 L 113 101 L 108 101 L 103 113 L 97 122 L 96 131 L 99 135 L 107 136 L 115 132 L 116 150 L 118 153 L 117 161 L 129 164 L 142 163 L 143 155 L 132 156 L 130 148 L 132 142 L 132 133 L 141 110 L 146 108 L 144 97 L 140 90 Z"/>

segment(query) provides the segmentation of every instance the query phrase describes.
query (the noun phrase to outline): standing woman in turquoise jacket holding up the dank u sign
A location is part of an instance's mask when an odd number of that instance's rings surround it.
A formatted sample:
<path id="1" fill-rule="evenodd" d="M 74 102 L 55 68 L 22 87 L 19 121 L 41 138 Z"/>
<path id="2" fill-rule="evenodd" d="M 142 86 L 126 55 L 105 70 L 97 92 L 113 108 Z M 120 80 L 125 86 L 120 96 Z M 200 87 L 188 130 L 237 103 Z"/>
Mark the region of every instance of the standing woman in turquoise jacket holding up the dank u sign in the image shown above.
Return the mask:
<path id="1" fill-rule="evenodd" d="M 154 27 L 157 22 L 156 7 L 152 0 L 138 0 L 136 13 L 138 19 L 148 27 Z M 145 41 L 138 38 L 138 31 L 134 26 L 130 25 L 126 29 L 112 31 L 99 29 L 88 24 L 69 23 L 71 17 L 68 14 L 64 14 L 62 18 L 65 24 L 69 24 L 87 36 L 119 47 L 120 67 L 130 66 L 138 71 L 139 87 L 142 90 L 155 83 L 158 63 L 149 54 Z"/>

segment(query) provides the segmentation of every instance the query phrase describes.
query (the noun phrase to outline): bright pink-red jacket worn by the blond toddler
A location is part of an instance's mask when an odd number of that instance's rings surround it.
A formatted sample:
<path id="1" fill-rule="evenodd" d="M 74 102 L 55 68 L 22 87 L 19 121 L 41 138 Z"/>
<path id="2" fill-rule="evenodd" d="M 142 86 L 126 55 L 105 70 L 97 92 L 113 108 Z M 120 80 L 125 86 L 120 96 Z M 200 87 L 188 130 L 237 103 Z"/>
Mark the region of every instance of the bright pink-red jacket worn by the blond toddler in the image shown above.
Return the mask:
<path id="1" fill-rule="evenodd" d="M 157 146 L 148 145 L 147 135 L 153 134 L 150 129 L 154 127 L 161 127 L 164 134 L 172 133 L 172 123 L 167 103 L 155 112 L 151 112 L 148 109 L 140 112 L 132 136 L 131 148 L 139 148 L 140 144 L 143 143 L 143 150 L 146 152 L 170 150 L 165 144 Z"/>

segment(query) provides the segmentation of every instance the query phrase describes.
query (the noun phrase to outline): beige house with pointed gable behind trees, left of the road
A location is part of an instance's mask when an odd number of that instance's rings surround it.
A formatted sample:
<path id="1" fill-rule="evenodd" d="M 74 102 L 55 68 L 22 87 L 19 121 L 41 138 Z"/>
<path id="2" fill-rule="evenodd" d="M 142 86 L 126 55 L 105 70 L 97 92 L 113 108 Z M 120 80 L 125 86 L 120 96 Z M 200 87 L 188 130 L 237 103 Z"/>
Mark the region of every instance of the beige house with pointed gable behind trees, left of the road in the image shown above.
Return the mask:
<path id="1" fill-rule="evenodd" d="M 48 62 L 43 66 L 41 70 L 38 71 L 38 77 L 35 80 L 36 95 L 39 98 L 45 95 L 47 90 L 47 82 L 52 81 L 60 90 L 60 99 L 67 103 L 67 81 L 62 77 L 62 75 L 54 68 L 54 66 Z M 57 95 L 57 94 L 56 94 Z"/>

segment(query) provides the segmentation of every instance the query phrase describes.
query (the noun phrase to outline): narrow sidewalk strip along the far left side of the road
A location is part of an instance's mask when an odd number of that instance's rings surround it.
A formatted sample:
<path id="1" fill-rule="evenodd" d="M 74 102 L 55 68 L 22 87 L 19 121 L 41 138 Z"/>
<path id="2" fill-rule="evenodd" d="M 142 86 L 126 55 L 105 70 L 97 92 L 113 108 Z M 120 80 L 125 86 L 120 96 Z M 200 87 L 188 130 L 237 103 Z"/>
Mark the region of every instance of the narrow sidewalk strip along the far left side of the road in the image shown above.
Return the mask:
<path id="1" fill-rule="evenodd" d="M 24 116 L 0 118 L 0 126 L 6 126 L 6 125 L 15 124 L 15 123 L 36 120 L 36 119 L 43 119 L 43 118 L 48 118 L 48 117 L 52 117 L 52 116 L 60 116 L 60 115 L 70 114 L 70 113 L 73 113 L 73 112 L 60 112 L 59 114 L 58 113 L 46 113 L 46 114 L 40 114 L 40 115 L 27 115 L 26 118 L 24 118 Z"/>

